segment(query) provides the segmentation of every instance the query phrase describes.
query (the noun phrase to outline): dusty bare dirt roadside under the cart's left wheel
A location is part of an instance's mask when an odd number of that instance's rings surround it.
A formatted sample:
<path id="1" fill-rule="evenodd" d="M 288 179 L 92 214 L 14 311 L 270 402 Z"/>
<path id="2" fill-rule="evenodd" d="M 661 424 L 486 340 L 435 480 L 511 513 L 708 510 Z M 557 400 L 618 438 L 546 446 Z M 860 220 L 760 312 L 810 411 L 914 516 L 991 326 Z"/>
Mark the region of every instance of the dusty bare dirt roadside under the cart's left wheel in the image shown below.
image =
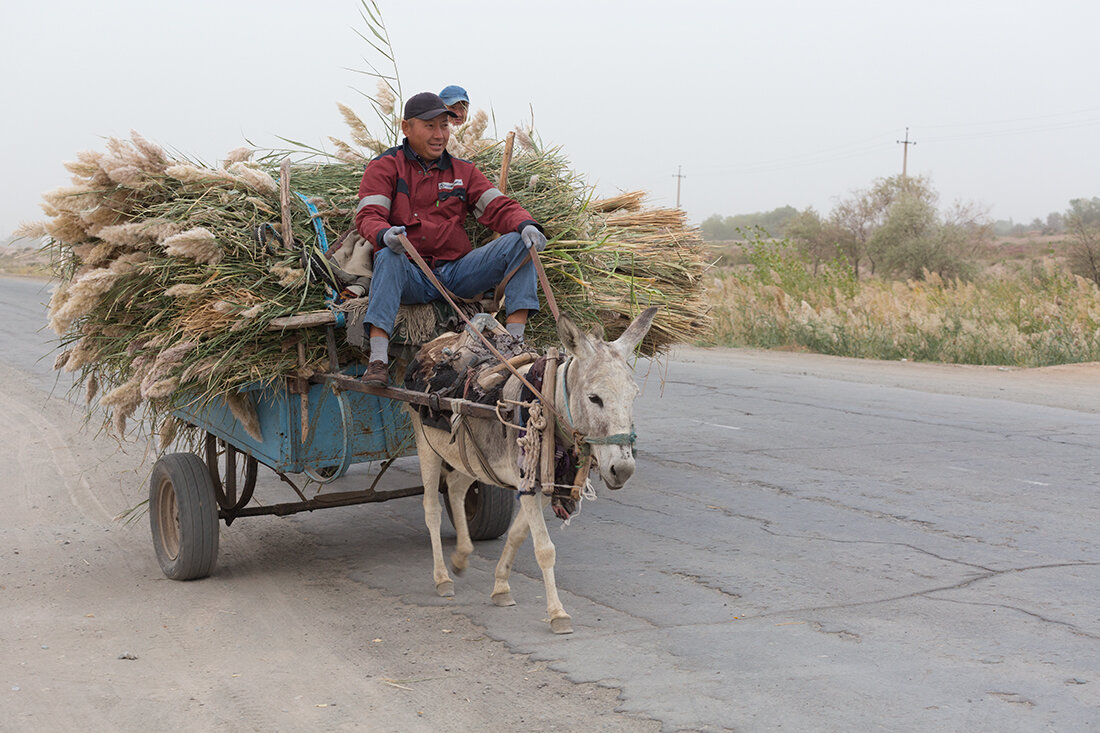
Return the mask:
<path id="1" fill-rule="evenodd" d="M 293 523 L 234 525 L 213 577 L 166 580 L 147 516 L 113 518 L 143 499 L 142 457 L 23 373 L 0 383 L 0 729 L 660 729 L 464 616 L 349 580 Z"/>

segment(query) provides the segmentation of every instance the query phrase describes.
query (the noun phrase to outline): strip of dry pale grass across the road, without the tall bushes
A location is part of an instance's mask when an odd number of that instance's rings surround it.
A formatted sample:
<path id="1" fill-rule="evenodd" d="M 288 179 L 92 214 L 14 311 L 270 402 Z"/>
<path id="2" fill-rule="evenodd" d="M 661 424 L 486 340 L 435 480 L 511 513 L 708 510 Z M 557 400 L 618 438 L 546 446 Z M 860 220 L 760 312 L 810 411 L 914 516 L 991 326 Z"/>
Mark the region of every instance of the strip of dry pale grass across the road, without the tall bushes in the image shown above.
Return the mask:
<path id="1" fill-rule="evenodd" d="M 1060 237 L 998 238 L 972 281 L 811 274 L 782 242 L 713 248 L 710 346 L 1044 366 L 1100 360 L 1100 288 Z"/>

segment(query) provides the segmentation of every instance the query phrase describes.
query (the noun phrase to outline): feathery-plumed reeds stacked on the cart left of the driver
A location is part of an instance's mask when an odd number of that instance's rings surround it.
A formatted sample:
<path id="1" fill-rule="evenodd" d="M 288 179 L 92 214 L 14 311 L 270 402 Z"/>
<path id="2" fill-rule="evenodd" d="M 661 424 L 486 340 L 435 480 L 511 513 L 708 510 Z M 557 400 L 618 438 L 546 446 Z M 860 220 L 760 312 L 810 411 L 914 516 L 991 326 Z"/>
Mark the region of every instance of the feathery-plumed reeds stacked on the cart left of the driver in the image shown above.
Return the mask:
<path id="1" fill-rule="evenodd" d="M 87 403 L 105 407 L 120 435 L 144 407 L 148 427 L 170 437 L 165 418 L 179 401 L 229 397 L 324 363 L 323 332 L 267 328 L 323 307 L 324 293 L 298 250 L 254 239 L 263 225 L 278 231 L 279 198 L 271 171 L 251 157 L 240 149 L 208 167 L 138 133 L 112 139 L 66 164 L 73 185 L 46 194 L 48 219 L 21 232 L 46 238 L 59 281 L 48 308 L 62 344 L 55 366 L 78 372 Z M 293 232 L 282 234 L 311 245 L 298 204 Z"/>

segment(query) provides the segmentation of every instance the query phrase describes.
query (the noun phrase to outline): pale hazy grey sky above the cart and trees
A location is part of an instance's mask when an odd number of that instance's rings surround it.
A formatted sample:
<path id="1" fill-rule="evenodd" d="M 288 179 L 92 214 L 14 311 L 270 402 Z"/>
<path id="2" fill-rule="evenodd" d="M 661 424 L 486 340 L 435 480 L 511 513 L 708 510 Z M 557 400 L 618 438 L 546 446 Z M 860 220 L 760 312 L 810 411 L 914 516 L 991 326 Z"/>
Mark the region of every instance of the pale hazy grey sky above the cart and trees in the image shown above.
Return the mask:
<path id="1" fill-rule="evenodd" d="M 378 0 L 406 96 L 448 84 L 527 120 L 601 194 L 692 220 L 825 214 L 901 172 L 1030 221 L 1100 196 L 1100 2 Z M 135 129 L 207 162 L 245 140 L 345 138 L 348 70 L 380 57 L 359 0 L 6 2 L 0 236 L 62 163 Z M 492 131 L 492 130 L 491 130 Z"/>

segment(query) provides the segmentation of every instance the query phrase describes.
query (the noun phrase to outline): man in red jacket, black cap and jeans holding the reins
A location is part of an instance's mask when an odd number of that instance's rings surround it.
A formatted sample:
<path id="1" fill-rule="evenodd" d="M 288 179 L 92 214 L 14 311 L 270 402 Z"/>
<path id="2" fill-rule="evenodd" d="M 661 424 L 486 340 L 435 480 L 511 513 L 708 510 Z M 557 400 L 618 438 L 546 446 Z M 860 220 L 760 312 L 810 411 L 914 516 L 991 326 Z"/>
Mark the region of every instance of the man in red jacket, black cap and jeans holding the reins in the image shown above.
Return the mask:
<path id="1" fill-rule="evenodd" d="M 374 275 L 364 324 L 371 357 L 363 381 L 389 382 L 389 335 L 402 303 L 442 297 L 397 239 L 406 234 L 436 277 L 455 295 L 475 297 L 516 270 L 504 289 L 505 328 L 522 337 L 529 310 L 538 310 L 535 265 L 527 250 L 547 244 L 542 228 L 519 204 L 493 186 L 473 163 L 447 152 L 455 114 L 430 91 L 405 105 L 405 140 L 375 157 L 359 186 L 355 228 L 374 242 Z M 465 232 L 466 214 L 493 231 L 509 232 L 474 249 Z"/>

